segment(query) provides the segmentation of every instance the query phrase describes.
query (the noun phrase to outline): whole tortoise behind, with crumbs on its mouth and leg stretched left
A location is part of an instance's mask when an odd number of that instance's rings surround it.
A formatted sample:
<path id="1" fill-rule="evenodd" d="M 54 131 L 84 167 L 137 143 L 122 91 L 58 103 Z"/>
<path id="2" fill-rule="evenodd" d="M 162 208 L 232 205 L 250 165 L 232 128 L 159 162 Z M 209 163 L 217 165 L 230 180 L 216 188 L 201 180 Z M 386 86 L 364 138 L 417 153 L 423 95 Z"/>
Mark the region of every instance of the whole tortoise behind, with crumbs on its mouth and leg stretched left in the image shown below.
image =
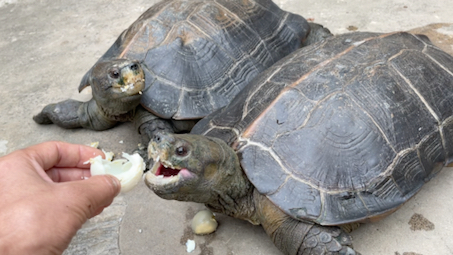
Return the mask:
<path id="1" fill-rule="evenodd" d="M 147 144 L 156 129 L 190 130 L 277 60 L 327 36 L 271 0 L 164 0 L 85 74 L 79 92 L 91 86 L 90 101 L 50 104 L 33 119 L 93 130 L 134 121 Z"/>

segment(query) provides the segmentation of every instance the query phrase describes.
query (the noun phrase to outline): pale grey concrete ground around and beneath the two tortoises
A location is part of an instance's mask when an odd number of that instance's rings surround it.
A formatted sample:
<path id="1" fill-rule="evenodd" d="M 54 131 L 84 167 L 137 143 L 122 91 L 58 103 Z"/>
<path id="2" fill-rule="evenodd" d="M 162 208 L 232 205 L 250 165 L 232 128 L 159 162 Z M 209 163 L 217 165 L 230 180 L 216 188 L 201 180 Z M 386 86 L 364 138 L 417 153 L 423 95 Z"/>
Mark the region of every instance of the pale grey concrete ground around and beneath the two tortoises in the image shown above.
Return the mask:
<path id="1" fill-rule="evenodd" d="M 47 140 L 89 144 L 115 153 L 133 150 L 131 124 L 104 132 L 39 126 L 32 120 L 43 106 L 77 93 L 83 74 L 120 32 L 156 1 L 0 0 L 0 156 Z M 321 23 L 333 33 L 394 31 L 453 23 L 451 0 L 277 0 L 285 10 Z M 453 26 L 424 32 L 453 52 Z M 26 188 L 26 187 L 24 187 Z M 453 172 L 445 169 L 414 199 L 386 219 L 352 233 L 364 255 L 453 254 Z M 90 220 L 66 254 L 280 254 L 259 226 L 219 215 L 214 234 L 194 236 L 189 223 L 203 205 L 166 201 L 143 183 L 119 196 Z M 1 226 L 1 224 L 0 224 Z"/>

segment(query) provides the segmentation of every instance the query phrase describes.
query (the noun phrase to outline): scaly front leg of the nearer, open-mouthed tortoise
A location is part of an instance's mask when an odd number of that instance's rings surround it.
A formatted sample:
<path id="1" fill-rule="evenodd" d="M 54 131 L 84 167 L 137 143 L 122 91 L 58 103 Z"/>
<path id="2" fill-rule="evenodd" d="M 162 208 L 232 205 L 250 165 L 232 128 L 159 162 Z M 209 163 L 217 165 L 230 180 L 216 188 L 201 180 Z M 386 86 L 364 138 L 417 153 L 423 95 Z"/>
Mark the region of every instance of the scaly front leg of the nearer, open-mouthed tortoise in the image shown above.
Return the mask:
<path id="1" fill-rule="evenodd" d="M 254 196 L 259 222 L 283 254 L 360 255 L 352 249 L 351 237 L 340 228 L 293 219 L 257 193 Z"/>

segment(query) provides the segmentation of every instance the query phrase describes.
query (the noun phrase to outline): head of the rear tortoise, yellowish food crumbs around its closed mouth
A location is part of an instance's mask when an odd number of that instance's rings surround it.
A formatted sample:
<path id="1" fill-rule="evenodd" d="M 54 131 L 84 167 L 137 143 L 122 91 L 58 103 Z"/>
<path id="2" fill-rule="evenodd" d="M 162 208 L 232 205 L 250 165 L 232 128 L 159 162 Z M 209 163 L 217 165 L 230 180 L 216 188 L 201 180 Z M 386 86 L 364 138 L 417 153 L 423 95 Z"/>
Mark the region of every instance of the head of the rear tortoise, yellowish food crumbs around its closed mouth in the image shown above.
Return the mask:
<path id="1" fill-rule="evenodd" d="M 91 86 L 94 100 L 103 109 L 125 113 L 140 103 L 145 74 L 137 61 L 101 60 L 82 78 L 79 92 L 87 86 Z"/>

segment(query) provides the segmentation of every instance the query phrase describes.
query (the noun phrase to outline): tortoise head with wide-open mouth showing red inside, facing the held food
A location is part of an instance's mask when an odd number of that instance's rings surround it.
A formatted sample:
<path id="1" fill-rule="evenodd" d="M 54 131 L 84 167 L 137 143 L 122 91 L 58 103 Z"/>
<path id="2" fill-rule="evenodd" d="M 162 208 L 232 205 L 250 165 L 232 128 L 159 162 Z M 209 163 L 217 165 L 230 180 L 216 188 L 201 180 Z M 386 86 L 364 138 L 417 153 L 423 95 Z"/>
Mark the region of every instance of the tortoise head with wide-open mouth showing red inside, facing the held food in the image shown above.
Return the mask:
<path id="1" fill-rule="evenodd" d="M 220 139 L 157 133 L 148 154 L 154 165 L 145 183 L 164 199 L 212 204 L 246 189 L 236 153 Z"/>

